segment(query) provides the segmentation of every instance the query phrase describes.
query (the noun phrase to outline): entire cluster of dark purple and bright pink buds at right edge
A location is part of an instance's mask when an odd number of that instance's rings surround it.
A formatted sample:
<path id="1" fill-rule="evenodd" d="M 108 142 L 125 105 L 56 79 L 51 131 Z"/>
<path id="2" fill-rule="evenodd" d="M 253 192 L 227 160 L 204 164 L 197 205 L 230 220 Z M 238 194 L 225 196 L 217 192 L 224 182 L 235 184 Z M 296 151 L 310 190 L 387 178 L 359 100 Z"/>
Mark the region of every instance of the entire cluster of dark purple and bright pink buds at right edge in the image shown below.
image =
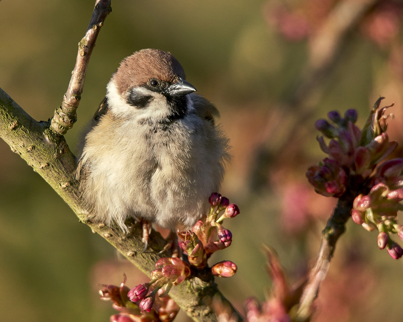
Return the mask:
<path id="1" fill-rule="evenodd" d="M 337 111 L 329 112 L 328 118 L 336 126 L 326 120 L 316 122 L 316 129 L 331 139 L 326 145 L 323 136 L 318 138 L 329 157 L 309 167 L 306 176 L 315 191 L 324 196 L 341 197 L 350 180 L 361 182 L 359 190 L 363 193 L 355 195 L 351 217 L 368 231 L 377 228 L 379 248 L 386 248 L 397 259 L 403 256 L 403 250 L 389 234 L 398 233 L 403 240 L 403 226 L 396 222 L 397 211 L 403 210 L 403 159 L 378 164 L 397 147 L 385 132 L 386 119 L 391 116 L 385 111 L 393 104 L 380 108 L 382 99 L 376 101 L 362 130 L 354 124 L 357 112 L 353 109 L 347 110 L 344 118 Z"/>

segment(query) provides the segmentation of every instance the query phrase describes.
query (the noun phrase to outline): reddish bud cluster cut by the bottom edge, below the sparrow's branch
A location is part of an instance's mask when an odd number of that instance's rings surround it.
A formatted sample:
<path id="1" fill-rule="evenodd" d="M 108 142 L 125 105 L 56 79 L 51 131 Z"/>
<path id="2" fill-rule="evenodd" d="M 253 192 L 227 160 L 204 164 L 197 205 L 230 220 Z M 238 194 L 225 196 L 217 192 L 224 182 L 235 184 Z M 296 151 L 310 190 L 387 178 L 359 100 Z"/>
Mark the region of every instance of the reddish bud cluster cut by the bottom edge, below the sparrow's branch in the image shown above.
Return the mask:
<path id="1" fill-rule="evenodd" d="M 125 286 L 125 283 L 126 275 L 124 275 L 123 283 L 120 284 L 120 287 L 103 285 L 104 288 L 99 291 L 101 299 L 111 300 L 112 307 L 120 312 L 110 317 L 111 322 L 172 322 L 174 320 L 179 312 L 179 307 L 169 296 L 158 299 L 154 308 L 144 310 L 141 303 L 139 303 L 144 289 L 137 288 L 137 291 L 133 291 L 133 289 L 130 290 L 129 287 Z M 146 288 L 145 295 L 149 286 Z M 137 293 L 137 301 L 132 300 L 133 293 Z"/>

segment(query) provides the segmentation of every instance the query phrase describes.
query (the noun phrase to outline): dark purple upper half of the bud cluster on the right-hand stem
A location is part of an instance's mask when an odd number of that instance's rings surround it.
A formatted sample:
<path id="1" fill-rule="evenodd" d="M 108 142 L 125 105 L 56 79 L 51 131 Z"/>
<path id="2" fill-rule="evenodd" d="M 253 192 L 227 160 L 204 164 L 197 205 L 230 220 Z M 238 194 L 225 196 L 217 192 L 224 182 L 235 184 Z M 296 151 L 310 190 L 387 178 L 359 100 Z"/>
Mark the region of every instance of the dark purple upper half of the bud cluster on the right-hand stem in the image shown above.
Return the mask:
<path id="1" fill-rule="evenodd" d="M 361 175 L 368 178 L 374 171 L 377 163 L 386 158 L 397 147 L 397 142 L 389 142 L 386 131 L 386 119 L 390 115 L 384 115 L 386 106 L 380 108 L 380 97 L 370 116 L 360 130 L 355 122 L 357 111 L 349 109 L 341 118 L 339 112 L 331 111 L 327 120 L 318 120 L 315 128 L 322 132 L 318 138 L 320 148 L 329 155 L 320 164 L 308 168 L 306 176 L 315 187 L 315 191 L 324 196 L 342 196 L 347 188 L 349 175 Z M 324 136 L 330 138 L 326 145 Z"/>

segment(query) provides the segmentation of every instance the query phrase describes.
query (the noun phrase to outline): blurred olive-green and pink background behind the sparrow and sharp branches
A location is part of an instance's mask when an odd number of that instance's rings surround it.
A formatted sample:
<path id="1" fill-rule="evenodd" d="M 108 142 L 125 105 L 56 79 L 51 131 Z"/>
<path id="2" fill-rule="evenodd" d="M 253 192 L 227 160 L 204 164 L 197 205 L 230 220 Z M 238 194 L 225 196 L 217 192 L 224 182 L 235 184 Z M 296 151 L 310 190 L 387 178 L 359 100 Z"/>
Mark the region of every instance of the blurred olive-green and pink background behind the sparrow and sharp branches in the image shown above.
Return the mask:
<path id="1" fill-rule="evenodd" d="M 36 120 L 48 120 L 69 84 L 94 0 L 0 1 L 0 87 Z M 238 272 L 218 279 L 242 309 L 270 292 L 262 243 L 276 249 L 291 283 L 312 266 L 336 200 L 305 178 L 324 157 L 314 122 L 355 108 L 362 126 L 375 100 L 403 146 L 403 2 L 376 0 L 112 1 L 78 109 L 80 128 L 120 61 L 142 48 L 170 51 L 187 80 L 220 110 L 233 146 L 221 193 L 241 214 L 225 227 L 233 244 L 210 263 Z M 402 156 L 397 149 L 391 157 Z M 317 300 L 314 321 L 402 321 L 403 261 L 349 221 Z M 0 316 L 4 322 L 108 321 L 98 284 L 146 278 L 0 140 Z M 188 321 L 180 314 L 178 322 Z"/>

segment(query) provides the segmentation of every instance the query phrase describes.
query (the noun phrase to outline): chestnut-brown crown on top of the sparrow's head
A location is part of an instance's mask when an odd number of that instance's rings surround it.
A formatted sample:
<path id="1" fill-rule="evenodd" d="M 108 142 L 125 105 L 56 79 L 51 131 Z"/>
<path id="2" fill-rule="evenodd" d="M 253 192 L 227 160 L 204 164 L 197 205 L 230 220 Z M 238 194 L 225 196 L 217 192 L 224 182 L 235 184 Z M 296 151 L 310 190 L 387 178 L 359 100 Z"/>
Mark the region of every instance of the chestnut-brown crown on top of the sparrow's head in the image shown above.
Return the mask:
<path id="1" fill-rule="evenodd" d="M 150 78 L 170 82 L 176 76 L 185 78 L 185 72 L 170 52 L 142 49 L 126 57 L 112 79 L 119 94 L 122 94 L 132 87 L 147 83 Z"/>

